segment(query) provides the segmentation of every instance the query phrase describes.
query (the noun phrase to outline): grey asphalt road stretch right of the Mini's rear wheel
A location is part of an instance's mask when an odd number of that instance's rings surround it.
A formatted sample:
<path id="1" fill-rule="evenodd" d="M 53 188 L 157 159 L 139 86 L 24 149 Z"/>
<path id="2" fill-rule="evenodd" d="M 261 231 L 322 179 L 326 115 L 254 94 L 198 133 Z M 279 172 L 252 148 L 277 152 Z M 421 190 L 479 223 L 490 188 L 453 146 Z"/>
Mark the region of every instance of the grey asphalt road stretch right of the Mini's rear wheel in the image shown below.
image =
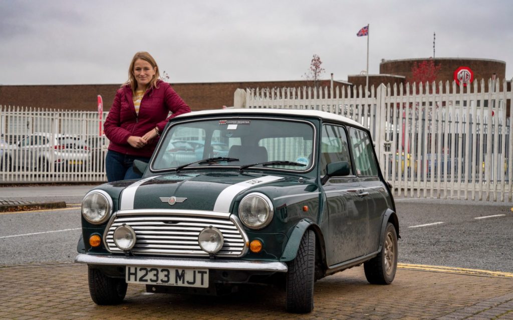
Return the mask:
<path id="1" fill-rule="evenodd" d="M 399 262 L 513 272 L 511 205 L 410 199 L 396 205 Z"/>

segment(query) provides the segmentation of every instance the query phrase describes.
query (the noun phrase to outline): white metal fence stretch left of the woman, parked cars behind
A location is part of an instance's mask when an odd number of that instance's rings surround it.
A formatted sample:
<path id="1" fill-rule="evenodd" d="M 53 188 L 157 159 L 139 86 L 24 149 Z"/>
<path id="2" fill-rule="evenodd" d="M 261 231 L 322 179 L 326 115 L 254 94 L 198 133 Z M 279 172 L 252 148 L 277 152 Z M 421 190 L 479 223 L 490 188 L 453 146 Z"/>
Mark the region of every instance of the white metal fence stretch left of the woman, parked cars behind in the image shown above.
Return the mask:
<path id="1" fill-rule="evenodd" d="M 106 181 L 99 119 L 96 112 L 0 106 L 0 183 Z"/>

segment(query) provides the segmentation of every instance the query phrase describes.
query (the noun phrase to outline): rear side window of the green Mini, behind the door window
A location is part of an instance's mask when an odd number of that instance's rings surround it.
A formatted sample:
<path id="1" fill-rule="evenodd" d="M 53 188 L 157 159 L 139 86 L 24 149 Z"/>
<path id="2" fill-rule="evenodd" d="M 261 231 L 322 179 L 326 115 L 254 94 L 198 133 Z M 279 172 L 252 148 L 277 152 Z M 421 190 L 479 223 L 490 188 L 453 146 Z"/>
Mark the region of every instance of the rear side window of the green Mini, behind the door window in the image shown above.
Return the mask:
<path id="1" fill-rule="evenodd" d="M 356 174 L 364 177 L 378 175 L 378 167 L 374 159 L 373 146 L 366 132 L 351 128 L 351 148 L 354 156 L 354 168 Z"/>

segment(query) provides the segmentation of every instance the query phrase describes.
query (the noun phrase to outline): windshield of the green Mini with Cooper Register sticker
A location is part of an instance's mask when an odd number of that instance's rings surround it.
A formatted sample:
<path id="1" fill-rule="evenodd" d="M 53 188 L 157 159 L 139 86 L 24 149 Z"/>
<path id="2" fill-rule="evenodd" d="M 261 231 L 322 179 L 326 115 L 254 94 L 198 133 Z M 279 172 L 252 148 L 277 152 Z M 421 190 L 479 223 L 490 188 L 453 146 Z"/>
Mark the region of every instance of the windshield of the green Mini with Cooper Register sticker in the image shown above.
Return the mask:
<path id="1" fill-rule="evenodd" d="M 151 168 L 165 170 L 203 159 L 229 157 L 238 160 L 195 163 L 187 168 L 282 161 L 259 169 L 303 171 L 312 165 L 313 137 L 313 125 L 303 121 L 226 118 L 182 122 L 173 125 L 163 137 Z"/>

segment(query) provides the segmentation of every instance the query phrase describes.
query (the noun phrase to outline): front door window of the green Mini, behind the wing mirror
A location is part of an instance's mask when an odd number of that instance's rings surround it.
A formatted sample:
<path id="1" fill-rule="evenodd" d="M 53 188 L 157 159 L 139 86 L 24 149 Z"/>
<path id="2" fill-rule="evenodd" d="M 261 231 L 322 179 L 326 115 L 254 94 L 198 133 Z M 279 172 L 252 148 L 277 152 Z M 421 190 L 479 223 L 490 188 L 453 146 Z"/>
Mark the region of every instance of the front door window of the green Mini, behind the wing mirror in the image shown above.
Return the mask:
<path id="1" fill-rule="evenodd" d="M 320 165 L 321 175 L 326 175 L 326 165 L 332 162 L 349 162 L 352 174 L 351 157 L 347 142 L 347 135 L 343 127 L 325 124 L 321 136 Z"/>

